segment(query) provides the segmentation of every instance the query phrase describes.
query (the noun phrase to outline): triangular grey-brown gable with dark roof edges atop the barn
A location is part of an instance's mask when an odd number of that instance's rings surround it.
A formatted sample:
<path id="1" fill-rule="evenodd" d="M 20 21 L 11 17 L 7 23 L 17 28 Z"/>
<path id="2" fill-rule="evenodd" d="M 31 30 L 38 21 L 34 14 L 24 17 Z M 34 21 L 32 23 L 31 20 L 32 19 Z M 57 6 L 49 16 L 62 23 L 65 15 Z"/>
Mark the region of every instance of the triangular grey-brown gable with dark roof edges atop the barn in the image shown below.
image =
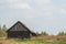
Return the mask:
<path id="1" fill-rule="evenodd" d="M 23 23 L 18 21 L 13 26 L 11 26 L 8 31 L 30 31 Z M 30 31 L 31 32 L 31 31 Z"/>

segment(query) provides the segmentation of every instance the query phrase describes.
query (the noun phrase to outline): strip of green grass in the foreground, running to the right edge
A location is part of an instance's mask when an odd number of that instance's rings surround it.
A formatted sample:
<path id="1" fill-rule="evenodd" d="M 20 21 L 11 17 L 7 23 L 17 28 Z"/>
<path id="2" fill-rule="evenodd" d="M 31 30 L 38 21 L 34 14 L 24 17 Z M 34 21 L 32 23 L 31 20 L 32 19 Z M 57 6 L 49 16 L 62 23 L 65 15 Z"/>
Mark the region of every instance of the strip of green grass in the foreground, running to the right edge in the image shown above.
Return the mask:
<path id="1" fill-rule="evenodd" d="M 66 41 L 56 41 L 56 42 L 47 42 L 47 41 L 44 41 L 44 40 L 38 40 L 38 38 L 35 38 L 35 40 L 16 40 L 16 42 L 24 42 L 24 43 L 32 43 L 34 42 L 35 44 L 66 44 Z"/>

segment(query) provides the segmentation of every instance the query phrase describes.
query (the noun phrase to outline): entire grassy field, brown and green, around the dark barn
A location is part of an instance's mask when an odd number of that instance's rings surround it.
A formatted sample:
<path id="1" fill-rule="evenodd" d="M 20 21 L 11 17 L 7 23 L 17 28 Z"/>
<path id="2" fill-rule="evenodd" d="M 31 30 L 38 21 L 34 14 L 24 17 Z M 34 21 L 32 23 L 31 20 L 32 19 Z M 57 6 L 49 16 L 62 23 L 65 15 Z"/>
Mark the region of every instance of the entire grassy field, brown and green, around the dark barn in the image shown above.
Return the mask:
<path id="1" fill-rule="evenodd" d="M 66 36 L 38 36 L 30 40 L 0 37 L 0 44 L 66 44 Z"/>

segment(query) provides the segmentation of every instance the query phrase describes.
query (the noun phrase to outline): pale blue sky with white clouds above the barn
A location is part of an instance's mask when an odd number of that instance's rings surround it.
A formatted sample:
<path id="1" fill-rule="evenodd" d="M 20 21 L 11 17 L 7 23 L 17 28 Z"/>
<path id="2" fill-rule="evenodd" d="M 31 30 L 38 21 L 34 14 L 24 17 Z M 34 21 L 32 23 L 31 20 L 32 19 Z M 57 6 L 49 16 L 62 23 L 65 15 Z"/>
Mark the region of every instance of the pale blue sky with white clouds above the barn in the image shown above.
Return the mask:
<path id="1" fill-rule="evenodd" d="M 34 32 L 66 32 L 66 0 L 0 0 L 0 24 L 9 29 L 16 21 Z"/>

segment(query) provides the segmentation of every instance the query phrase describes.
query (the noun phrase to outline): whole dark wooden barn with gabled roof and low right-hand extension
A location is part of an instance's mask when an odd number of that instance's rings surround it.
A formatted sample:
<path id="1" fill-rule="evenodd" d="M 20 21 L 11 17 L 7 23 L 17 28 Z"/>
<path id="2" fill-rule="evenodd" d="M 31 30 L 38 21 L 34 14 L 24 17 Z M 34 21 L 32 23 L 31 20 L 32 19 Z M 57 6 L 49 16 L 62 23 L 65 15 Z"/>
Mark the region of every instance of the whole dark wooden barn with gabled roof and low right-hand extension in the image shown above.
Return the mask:
<path id="1" fill-rule="evenodd" d="M 30 31 L 23 23 L 18 21 L 8 31 L 8 38 L 30 38 L 31 36 L 36 36 L 36 34 Z"/>

